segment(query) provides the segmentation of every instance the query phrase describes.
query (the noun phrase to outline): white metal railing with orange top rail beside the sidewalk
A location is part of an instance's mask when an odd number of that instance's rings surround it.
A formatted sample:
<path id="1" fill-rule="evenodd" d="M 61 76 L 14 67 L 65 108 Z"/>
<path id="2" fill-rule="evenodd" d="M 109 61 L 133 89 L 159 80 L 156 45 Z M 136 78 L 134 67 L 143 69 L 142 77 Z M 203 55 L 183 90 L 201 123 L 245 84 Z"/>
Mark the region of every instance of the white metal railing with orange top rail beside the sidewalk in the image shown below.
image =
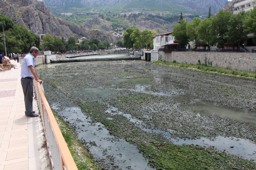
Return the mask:
<path id="1" fill-rule="evenodd" d="M 34 80 L 34 88 L 52 168 L 54 170 L 77 170 L 74 159 L 61 134 L 61 130 L 59 129 L 42 88 L 36 80 Z"/>

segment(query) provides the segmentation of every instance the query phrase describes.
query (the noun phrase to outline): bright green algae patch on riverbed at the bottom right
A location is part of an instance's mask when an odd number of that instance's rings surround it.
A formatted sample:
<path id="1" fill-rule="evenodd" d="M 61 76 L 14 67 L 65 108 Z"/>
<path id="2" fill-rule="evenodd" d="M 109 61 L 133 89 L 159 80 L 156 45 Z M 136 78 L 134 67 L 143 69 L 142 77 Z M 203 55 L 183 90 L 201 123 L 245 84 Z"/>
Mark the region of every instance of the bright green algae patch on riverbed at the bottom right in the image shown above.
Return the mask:
<path id="1" fill-rule="evenodd" d="M 156 169 L 238 169 L 255 168 L 255 163 L 247 159 L 234 157 L 211 147 L 204 149 L 195 145 L 175 145 L 152 142 L 141 144 L 139 149 L 149 158 L 149 164 Z"/>

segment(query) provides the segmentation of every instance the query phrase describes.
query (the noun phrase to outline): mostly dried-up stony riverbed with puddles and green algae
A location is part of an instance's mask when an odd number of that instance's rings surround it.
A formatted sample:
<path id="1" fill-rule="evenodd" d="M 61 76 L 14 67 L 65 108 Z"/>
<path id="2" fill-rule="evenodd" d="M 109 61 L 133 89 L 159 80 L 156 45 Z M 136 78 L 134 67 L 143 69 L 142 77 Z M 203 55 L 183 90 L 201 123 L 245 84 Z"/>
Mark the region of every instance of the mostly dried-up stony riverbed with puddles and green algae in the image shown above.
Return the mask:
<path id="1" fill-rule="evenodd" d="M 144 61 L 38 69 L 98 169 L 256 169 L 256 81 Z"/>

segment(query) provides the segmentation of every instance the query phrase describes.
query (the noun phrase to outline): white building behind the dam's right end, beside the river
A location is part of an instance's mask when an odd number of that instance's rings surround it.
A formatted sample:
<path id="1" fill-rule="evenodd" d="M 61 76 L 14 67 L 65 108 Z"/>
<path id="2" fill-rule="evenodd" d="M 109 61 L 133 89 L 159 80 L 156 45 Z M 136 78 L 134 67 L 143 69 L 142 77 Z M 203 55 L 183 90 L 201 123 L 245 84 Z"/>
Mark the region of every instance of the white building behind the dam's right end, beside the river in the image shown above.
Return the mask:
<path id="1" fill-rule="evenodd" d="M 175 41 L 174 36 L 172 36 L 173 32 L 167 32 L 164 34 L 156 35 L 153 40 L 154 50 L 158 51 L 163 45 L 172 44 Z"/>

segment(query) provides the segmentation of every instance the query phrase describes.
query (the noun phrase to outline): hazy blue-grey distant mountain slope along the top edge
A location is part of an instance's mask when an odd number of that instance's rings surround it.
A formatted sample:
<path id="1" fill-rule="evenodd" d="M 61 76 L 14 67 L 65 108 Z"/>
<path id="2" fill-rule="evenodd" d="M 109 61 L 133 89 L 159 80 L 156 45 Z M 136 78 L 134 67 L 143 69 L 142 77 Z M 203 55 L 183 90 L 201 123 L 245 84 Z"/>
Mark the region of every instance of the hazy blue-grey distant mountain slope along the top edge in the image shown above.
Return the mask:
<path id="1" fill-rule="evenodd" d="M 189 11 L 206 14 L 211 7 L 212 13 L 216 14 L 223 6 L 228 4 L 227 0 L 44 0 L 48 6 L 89 7 L 115 6 L 120 8 L 146 8 L 159 11 Z M 80 8 L 82 8 L 80 6 Z M 162 10 L 161 10 L 162 9 Z"/>

